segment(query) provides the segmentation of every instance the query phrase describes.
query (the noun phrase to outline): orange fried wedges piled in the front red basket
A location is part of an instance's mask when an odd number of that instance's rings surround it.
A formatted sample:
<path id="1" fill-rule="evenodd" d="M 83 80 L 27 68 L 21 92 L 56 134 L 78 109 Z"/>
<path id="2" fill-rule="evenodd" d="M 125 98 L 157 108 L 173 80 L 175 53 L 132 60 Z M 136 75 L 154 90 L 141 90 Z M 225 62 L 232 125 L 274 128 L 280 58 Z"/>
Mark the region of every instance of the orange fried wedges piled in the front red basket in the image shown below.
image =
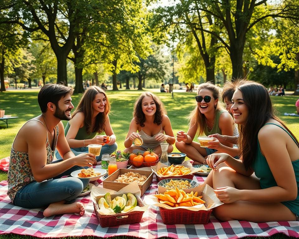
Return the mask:
<path id="1" fill-rule="evenodd" d="M 197 192 L 185 193 L 183 190 L 175 187 L 175 190 L 168 190 L 164 194 L 155 194 L 158 198 L 159 203 L 167 204 L 171 207 L 192 207 L 199 204 L 204 204 L 205 201 L 202 200 L 202 196 L 197 197 Z"/>

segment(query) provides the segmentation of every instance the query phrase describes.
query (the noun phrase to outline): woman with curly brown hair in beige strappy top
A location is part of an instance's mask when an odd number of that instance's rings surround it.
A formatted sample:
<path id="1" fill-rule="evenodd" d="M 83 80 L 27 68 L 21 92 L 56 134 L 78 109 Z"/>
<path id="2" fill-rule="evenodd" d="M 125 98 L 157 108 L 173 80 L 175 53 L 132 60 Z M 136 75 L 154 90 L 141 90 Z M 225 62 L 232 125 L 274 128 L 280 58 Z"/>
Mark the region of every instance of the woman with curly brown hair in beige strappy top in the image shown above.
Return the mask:
<path id="1" fill-rule="evenodd" d="M 168 152 L 173 151 L 172 144 L 175 143 L 175 138 L 171 123 L 163 103 L 157 96 L 151 92 L 142 93 L 135 102 L 133 117 L 124 152 L 145 151 L 151 148 L 159 155 L 162 153 L 160 144 L 165 140 L 169 143 Z M 135 138 L 142 138 L 143 145 L 132 145 Z"/>

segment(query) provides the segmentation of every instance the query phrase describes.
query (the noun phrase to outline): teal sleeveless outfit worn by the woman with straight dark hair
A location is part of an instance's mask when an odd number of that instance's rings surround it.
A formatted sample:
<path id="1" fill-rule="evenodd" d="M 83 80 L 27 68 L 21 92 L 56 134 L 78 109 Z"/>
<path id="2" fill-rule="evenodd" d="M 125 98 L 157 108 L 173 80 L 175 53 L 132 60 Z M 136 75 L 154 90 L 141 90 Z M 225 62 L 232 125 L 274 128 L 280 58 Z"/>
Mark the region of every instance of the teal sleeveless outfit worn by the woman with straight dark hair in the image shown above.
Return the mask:
<path id="1" fill-rule="evenodd" d="M 273 123 L 268 123 L 273 124 Z M 266 124 L 265 124 L 266 125 Z M 294 140 L 294 142 L 297 144 L 296 140 L 292 137 L 292 135 L 283 127 L 281 127 L 278 124 L 274 124 L 286 131 L 291 138 Z M 298 144 L 297 144 L 298 145 Z M 298 145 L 299 147 L 299 145 Z M 286 201 L 282 202 L 288 209 L 290 209 L 293 213 L 295 213 L 297 216 L 299 216 L 299 159 L 296 161 L 292 161 L 292 166 L 295 172 L 296 182 L 297 182 L 297 198 L 293 201 Z M 268 165 L 268 162 L 266 158 L 263 156 L 260 146 L 259 146 L 259 140 L 258 140 L 258 151 L 256 158 L 253 162 L 253 170 L 255 175 L 260 179 L 260 185 L 261 188 L 270 188 L 277 186 L 277 183 L 273 177 L 273 174 L 270 170 L 270 167 Z"/>

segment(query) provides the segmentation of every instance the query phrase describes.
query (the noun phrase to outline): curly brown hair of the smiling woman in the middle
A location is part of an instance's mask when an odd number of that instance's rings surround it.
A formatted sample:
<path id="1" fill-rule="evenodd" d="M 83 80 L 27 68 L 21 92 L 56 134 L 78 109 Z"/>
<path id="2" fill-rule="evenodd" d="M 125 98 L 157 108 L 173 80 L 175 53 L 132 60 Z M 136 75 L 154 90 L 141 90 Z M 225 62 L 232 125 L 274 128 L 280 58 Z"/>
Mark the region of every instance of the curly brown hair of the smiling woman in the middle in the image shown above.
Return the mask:
<path id="1" fill-rule="evenodd" d="M 162 124 L 163 116 L 166 115 L 166 110 L 164 108 L 164 104 L 157 96 L 155 96 L 151 92 L 142 93 L 139 96 L 139 98 L 135 101 L 133 117 L 135 118 L 136 124 L 140 124 L 141 127 L 144 127 L 145 114 L 142 111 L 142 100 L 145 96 L 151 96 L 156 104 L 156 113 L 155 113 L 154 123 L 158 124 L 158 125 Z"/>

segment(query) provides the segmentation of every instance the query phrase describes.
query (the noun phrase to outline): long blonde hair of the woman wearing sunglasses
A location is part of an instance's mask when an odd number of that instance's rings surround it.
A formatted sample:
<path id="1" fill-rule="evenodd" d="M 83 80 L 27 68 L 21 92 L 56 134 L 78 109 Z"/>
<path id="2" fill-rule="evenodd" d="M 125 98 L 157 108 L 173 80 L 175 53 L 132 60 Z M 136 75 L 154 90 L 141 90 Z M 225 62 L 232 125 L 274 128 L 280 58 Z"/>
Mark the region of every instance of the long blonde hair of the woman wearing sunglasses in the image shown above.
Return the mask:
<path id="1" fill-rule="evenodd" d="M 197 87 L 197 95 L 198 95 L 198 92 L 201 89 L 207 89 L 207 90 L 211 91 L 212 94 L 213 94 L 214 99 L 219 99 L 219 97 L 220 97 L 219 87 L 215 86 L 211 82 L 206 82 L 206 83 L 200 84 Z M 214 107 L 215 108 L 215 114 L 216 114 L 217 110 L 224 110 L 223 106 L 218 104 L 218 102 L 217 102 L 216 106 Z M 196 107 L 194 108 L 194 110 L 192 110 L 190 112 L 188 119 L 189 119 L 189 126 L 190 126 L 190 124 L 192 124 L 192 122 L 194 122 L 195 127 L 197 128 L 198 135 L 203 135 L 203 131 L 206 127 L 206 116 L 200 112 L 200 110 L 198 109 L 197 104 L 196 104 Z"/>

